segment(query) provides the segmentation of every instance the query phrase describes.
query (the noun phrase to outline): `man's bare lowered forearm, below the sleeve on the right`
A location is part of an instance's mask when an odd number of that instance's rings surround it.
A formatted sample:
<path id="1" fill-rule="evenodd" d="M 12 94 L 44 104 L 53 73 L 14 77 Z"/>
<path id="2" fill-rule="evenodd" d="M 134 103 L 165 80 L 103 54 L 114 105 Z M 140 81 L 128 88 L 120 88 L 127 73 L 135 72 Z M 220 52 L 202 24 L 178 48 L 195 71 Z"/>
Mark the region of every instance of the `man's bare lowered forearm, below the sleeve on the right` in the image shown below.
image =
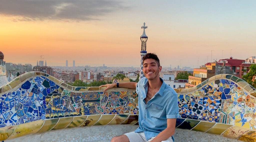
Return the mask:
<path id="1" fill-rule="evenodd" d="M 168 139 L 172 135 L 174 135 L 175 128 L 166 128 L 164 131 L 160 132 L 151 142 L 161 142 L 163 140 Z"/>

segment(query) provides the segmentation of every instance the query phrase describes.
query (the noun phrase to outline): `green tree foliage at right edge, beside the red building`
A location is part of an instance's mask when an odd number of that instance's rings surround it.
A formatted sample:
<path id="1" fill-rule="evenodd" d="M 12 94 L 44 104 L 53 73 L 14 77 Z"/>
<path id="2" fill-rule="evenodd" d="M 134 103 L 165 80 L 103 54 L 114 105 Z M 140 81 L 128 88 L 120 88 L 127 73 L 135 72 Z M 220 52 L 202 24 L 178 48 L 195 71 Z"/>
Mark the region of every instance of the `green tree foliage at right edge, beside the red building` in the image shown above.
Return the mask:
<path id="1" fill-rule="evenodd" d="M 250 85 L 252 85 L 254 88 L 256 88 L 256 80 L 252 81 L 253 77 L 256 76 L 256 64 L 251 64 L 249 67 L 250 71 L 242 76 L 242 79 L 248 82 Z"/>

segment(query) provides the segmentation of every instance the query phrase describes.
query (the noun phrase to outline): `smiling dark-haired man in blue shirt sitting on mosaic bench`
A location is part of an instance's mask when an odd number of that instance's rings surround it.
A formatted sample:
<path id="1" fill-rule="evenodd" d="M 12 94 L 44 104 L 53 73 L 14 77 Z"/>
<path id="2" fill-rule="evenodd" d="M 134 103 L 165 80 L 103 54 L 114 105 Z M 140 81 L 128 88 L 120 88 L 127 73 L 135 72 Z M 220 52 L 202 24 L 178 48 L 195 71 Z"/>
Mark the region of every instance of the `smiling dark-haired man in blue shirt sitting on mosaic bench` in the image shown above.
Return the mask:
<path id="1" fill-rule="evenodd" d="M 130 133 L 113 137 L 111 142 L 170 142 L 174 141 L 176 118 L 178 117 L 177 93 L 159 77 L 162 70 L 156 54 L 143 57 L 143 74 L 138 83 L 114 83 L 100 87 L 136 88 L 138 94 L 139 127 Z"/>

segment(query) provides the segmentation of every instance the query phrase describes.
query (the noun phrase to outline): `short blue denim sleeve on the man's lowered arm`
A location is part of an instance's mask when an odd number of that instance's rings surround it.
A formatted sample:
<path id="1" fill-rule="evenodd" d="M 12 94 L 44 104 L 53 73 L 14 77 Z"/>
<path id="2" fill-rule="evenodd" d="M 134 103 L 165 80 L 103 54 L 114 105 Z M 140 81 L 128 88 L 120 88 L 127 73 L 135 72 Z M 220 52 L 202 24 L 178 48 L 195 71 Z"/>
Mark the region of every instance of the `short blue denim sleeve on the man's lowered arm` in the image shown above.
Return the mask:
<path id="1" fill-rule="evenodd" d="M 168 102 L 166 108 L 166 118 L 178 118 L 179 115 L 179 106 L 178 106 L 178 95 L 172 95 Z"/>

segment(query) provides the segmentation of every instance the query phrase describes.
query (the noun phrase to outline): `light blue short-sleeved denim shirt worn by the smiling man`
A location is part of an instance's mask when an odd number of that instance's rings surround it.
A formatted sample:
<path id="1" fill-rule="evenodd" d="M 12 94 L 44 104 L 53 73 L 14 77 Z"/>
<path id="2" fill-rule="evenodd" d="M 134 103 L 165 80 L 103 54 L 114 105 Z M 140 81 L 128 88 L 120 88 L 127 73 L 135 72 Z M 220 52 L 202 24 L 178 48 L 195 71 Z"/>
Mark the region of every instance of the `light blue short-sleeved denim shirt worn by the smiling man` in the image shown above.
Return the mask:
<path id="1" fill-rule="evenodd" d="M 160 78 L 161 79 L 161 78 Z M 157 136 L 167 127 L 168 118 L 177 118 L 178 96 L 172 87 L 164 83 L 159 91 L 145 103 L 145 98 L 148 89 L 148 80 L 142 78 L 136 86 L 136 93 L 138 94 L 138 108 L 139 108 L 139 127 L 135 132 L 144 132 L 146 140 Z M 175 125 L 175 124 L 174 124 Z M 172 136 L 174 141 L 174 137 Z"/>

